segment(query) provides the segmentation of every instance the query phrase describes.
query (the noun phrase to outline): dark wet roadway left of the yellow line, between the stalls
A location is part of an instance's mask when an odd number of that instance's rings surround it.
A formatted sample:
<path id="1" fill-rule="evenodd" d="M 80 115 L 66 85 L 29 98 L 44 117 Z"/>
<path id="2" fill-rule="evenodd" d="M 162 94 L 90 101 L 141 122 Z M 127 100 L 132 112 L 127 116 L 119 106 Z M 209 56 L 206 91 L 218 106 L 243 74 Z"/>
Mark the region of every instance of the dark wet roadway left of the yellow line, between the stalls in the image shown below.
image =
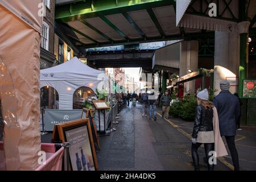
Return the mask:
<path id="1" fill-rule="evenodd" d="M 115 125 L 117 131 L 100 138 L 100 170 L 193 170 L 189 134 L 166 119 L 158 116 L 154 121 L 142 117 L 141 113 L 142 106 L 139 104 L 126 107 Z M 200 148 L 199 154 L 201 170 L 206 170 L 203 148 Z M 218 162 L 215 170 L 230 168 Z"/>

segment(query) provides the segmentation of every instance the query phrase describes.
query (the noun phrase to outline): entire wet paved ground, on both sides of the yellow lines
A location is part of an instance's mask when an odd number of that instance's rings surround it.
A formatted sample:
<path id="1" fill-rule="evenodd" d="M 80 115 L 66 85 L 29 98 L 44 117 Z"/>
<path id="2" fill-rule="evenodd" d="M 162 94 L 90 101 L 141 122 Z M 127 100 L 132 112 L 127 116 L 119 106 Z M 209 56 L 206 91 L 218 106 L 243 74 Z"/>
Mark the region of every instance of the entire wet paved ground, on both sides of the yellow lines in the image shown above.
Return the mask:
<path id="1" fill-rule="evenodd" d="M 101 151 L 97 153 L 100 170 L 193 170 L 191 158 L 192 122 L 182 119 L 156 121 L 142 117 L 142 106 L 130 106 L 119 115 L 117 131 L 100 137 Z M 256 170 L 256 127 L 242 127 L 237 132 L 236 144 L 241 170 Z M 51 142 L 51 133 L 42 136 L 42 142 Z M 203 147 L 199 149 L 200 168 L 203 162 Z M 217 161 L 216 171 L 232 169 L 229 156 Z"/>

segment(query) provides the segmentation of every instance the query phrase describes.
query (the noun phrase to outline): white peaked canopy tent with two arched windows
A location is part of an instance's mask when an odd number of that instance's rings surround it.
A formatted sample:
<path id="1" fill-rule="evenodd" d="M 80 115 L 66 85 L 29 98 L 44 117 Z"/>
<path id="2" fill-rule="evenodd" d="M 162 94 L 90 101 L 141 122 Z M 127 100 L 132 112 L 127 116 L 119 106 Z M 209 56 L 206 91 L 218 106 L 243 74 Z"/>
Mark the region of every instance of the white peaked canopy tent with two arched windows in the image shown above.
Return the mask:
<path id="1" fill-rule="evenodd" d="M 76 89 L 86 86 L 94 92 L 97 88 L 108 90 L 108 85 L 105 84 L 108 83 L 107 79 L 104 72 L 90 68 L 74 57 L 56 67 L 41 70 L 40 88 L 55 88 L 59 94 L 59 109 L 70 110 L 73 109 L 73 94 Z"/>

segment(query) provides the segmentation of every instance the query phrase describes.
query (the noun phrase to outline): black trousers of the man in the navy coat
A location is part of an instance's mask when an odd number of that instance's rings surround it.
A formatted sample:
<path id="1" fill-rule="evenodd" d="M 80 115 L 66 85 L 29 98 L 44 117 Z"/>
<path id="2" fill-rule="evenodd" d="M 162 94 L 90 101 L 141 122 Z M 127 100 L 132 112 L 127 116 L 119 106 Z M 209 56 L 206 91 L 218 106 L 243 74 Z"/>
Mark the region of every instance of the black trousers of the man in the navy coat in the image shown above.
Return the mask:
<path id="1" fill-rule="evenodd" d="M 235 136 L 225 136 L 226 143 L 228 144 L 229 151 L 232 157 L 232 162 L 234 165 L 234 171 L 239 171 L 239 160 L 238 160 L 238 152 L 235 144 Z"/>

